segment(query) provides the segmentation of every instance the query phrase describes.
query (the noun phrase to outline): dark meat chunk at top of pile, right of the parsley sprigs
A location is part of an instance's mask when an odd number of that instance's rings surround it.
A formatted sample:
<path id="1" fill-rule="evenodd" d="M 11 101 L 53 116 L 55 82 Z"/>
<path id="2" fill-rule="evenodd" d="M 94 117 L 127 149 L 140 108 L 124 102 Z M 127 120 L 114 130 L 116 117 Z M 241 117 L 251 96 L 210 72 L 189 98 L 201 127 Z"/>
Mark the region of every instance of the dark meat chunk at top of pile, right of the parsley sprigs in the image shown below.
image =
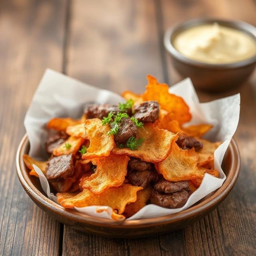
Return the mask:
<path id="1" fill-rule="evenodd" d="M 156 101 L 145 101 L 134 107 L 134 117 L 143 123 L 153 123 L 159 118 L 159 105 Z"/>

